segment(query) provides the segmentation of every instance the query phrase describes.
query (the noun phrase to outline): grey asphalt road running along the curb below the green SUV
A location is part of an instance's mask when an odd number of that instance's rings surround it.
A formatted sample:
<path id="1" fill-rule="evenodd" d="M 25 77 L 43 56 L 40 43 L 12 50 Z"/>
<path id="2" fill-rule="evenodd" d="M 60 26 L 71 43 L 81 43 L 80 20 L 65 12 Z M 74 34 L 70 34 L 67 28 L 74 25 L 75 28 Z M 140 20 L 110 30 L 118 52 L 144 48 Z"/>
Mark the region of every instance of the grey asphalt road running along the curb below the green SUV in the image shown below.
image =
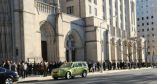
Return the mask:
<path id="1" fill-rule="evenodd" d="M 19 84 L 157 84 L 157 69 L 141 69 L 87 78 L 34 81 Z"/>

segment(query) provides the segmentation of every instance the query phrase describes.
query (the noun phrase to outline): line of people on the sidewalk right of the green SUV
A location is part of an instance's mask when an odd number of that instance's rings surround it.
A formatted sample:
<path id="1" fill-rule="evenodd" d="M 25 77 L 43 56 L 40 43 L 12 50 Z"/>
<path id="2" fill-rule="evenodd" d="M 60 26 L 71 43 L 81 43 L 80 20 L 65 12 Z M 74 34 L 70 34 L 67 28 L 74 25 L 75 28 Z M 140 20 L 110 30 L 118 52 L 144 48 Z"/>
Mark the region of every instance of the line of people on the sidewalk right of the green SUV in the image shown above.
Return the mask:
<path id="1" fill-rule="evenodd" d="M 102 64 L 102 65 L 101 65 Z M 151 63 L 145 63 L 145 62 L 110 62 L 105 61 L 103 63 L 97 62 L 97 63 L 88 63 L 89 71 L 95 72 L 100 71 L 101 66 L 103 67 L 103 70 L 117 70 L 117 69 L 136 69 L 136 68 L 142 68 L 142 67 L 151 67 Z M 155 64 L 153 64 L 155 66 Z"/>

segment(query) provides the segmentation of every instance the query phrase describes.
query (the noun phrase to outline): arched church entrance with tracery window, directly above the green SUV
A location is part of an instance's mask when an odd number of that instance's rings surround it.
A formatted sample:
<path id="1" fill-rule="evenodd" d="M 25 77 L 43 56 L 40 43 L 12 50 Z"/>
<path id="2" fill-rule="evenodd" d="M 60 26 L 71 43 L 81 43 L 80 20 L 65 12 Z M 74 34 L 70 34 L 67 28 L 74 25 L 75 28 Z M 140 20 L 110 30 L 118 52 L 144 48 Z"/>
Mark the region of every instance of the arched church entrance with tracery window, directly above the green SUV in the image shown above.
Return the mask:
<path id="1" fill-rule="evenodd" d="M 68 32 L 65 38 L 66 60 L 79 61 L 82 58 L 82 39 L 76 30 Z"/>

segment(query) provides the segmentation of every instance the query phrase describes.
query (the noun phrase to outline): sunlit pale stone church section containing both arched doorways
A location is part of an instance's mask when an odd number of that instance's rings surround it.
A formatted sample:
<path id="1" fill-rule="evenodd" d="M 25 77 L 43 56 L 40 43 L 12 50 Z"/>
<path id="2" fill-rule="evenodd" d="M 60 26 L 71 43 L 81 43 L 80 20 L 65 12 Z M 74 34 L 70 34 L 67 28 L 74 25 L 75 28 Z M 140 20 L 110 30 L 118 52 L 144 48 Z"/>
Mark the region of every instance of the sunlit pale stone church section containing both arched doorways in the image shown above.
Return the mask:
<path id="1" fill-rule="evenodd" d="M 20 22 L 17 27 L 23 31 L 17 32 L 24 44 L 17 44 L 19 57 L 25 61 L 42 60 L 50 62 L 84 60 L 84 20 L 57 13 L 55 6 L 43 2 L 23 2 L 22 18 L 15 16 Z M 29 6 L 28 6 L 29 4 Z M 47 8 L 46 8 L 47 7 Z M 19 12 L 17 12 L 19 13 Z M 18 29 L 17 29 L 18 30 Z M 20 39 L 17 39 L 22 43 Z M 22 47 L 23 46 L 23 47 Z M 21 48 L 21 49 L 20 49 Z"/>

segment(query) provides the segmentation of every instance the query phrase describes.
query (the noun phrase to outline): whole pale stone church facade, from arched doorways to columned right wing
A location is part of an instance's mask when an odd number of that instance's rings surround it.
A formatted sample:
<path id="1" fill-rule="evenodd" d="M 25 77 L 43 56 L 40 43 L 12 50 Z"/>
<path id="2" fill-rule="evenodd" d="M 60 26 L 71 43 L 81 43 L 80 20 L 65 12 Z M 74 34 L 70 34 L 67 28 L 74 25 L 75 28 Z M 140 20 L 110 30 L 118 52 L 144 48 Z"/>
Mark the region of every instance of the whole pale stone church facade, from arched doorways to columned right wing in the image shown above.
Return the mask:
<path id="1" fill-rule="evenodd" d="M 76 17 L 63 13 L 60 10 L 62 6 L 57 6 L 57 2 L 53 5 L 43 0 L 1 0 L 1 2 L 0 12 L 3 12 L 0 15 L 1 60 L 28 62 L 144 60 L 143 55 L 137 53 L 139 51 L 136 41 L 128 39 L 132 35 L 130 30 L 126 30 L 129 33 L 125 32 L 130 34 L 128 37 L 126 35 L 118 40 L 119 37 L 108 35 L 115 33 L 114 27 L 99 17 Z M 115 25 L 114 22 L 112 26 Z M 129 48 L 127 45 L 133 47 Z"/>

